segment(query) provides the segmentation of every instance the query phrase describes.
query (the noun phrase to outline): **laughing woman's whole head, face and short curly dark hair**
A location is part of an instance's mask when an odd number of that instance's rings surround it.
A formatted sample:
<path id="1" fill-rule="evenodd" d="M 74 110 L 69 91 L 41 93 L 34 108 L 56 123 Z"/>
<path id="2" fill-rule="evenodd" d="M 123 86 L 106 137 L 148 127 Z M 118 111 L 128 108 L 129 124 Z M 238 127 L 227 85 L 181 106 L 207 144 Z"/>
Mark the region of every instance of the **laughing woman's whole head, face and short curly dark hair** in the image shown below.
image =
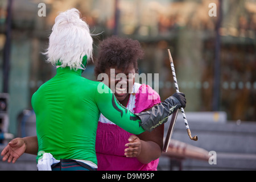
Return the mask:
<path id="1" fill-rule="evenodd" d="M 98 80 L 101 73 L 108 75 L 108 80 L 102 80 L 112 89 L 120 104 L 126 106 L 133 91 L 135 73 L 138 73 L 137 61 L 144 55 L 141 44 L 138 40 L 112 36 L 102 40 L 98 47 L 95 76 Z M 133 77 L 129 78 L 129 73 Z"/>

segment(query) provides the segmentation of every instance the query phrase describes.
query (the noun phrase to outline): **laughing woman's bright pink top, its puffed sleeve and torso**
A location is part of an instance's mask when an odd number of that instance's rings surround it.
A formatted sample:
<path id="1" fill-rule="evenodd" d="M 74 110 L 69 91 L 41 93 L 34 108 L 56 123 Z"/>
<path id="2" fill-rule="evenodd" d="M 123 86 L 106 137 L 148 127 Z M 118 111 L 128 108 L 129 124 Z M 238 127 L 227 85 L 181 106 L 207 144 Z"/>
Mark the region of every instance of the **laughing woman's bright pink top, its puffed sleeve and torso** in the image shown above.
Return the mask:
<path id="1" fill-rule="evenodd" d="M 148 96 L 153 95 L 155 99 L 148 100 Z M 144 84 L 139 88 L 135 97 L 134 113 L 149 109 L 161 102 L 158 93 Z M 129 143 L 128 138 L 131 135 L 117 125 L 98 122 L 96 135 L 98 171 L 156 171 L 159 159 L 142 164 L 136 158 L 126 158 L 125 144 Z"/>

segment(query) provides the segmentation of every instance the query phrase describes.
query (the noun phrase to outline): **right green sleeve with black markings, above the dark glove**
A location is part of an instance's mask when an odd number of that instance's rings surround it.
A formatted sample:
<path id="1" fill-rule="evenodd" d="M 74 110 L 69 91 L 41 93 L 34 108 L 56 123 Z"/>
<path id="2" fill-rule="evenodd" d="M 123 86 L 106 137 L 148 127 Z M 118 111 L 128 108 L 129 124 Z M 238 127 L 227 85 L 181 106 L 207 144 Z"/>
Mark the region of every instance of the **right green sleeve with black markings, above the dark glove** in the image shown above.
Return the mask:
<path id="1" fill-rule="evenodd" d="M 122 129 L 135 135 L 145 131 L 140 126 L 141 120 L 137 115 L 119 104 L 112 90 L 102 82 L 98 84 L 96 102 L 100 112 Z"/>

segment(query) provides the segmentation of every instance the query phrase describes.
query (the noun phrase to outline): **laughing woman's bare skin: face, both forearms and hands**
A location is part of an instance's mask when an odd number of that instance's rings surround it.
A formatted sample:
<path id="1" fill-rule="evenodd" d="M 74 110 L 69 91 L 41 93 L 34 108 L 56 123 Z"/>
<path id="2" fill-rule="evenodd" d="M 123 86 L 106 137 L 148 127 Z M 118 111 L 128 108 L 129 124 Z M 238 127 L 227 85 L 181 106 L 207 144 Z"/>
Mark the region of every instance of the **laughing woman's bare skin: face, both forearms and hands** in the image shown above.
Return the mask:
<path id="1" fill-rule="evenodd" d="M 115 75 L 110 75 L 110 69 L 115 69 Z M 105 70 L 105 73 L 109 76 L 108 84 L 114 85 L 113 92 L 115 97 L 123 106 L 127 105 L 129 101 L 130 93 L 133 90 L 134 77 L 129 77 L 129 73 L 135 73 L 133 65 L 129 68 L 122 70 L 117 67 L 110 67 Z M 115 79 L 118 73 L 124 73 L 126 75 L 126 84 L 125 80 Z M 129 88 L 129 82 L 131 88 Z M 115 86 L 119 83 L 119 88 L 123 88 L 123 85 L 127 85 L 127 90 L 124 93 L 118 92 L 118 89 L 115 89 Z M 123 83 L 122 86 L 121 83 Z M 163 132 L 164 126 L 161 125 L 155 130 L 148 132 L 145 131 L 139 135 L 131 135 L 129 143 L 126 143 L 125 146 L 125 156 L 127 158 L 137 158 L 139 162 L 143 164 L 150 163 L 152 160 L 158 159 L 162 153 L 163 148 Z M 150 152 L 148 152 L 150 151 Z M 1 155 L 3 156 L 3 161 L 15 163 L 16 160 L 23 154 L 33 154 L 37 155 L 38 152 L 38 138 L 35 137 L 25 137 L 25 138 L 15 138 L 3 149 Z"/>

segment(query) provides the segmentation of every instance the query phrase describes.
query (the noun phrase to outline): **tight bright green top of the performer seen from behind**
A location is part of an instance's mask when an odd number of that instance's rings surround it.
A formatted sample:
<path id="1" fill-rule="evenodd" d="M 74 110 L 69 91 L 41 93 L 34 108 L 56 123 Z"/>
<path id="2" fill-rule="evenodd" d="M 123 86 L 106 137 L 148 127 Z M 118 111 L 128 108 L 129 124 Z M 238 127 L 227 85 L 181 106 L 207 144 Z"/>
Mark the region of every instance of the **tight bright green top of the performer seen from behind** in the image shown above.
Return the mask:
<path id="1" fill-rule="evenodd" d="M 57 160 L 80 159 L 97 164 L 95 142 L 100 113 L 130 133 L 145 131 L 139 118 L 119 104 L 108 86 L 82 77 L 81 72 L 57 68 L 55 77 L 33 94 L 37 159 L 41 152 L 49 152 Z M 98 89 L 108 92 L 100 93 Z"/>

